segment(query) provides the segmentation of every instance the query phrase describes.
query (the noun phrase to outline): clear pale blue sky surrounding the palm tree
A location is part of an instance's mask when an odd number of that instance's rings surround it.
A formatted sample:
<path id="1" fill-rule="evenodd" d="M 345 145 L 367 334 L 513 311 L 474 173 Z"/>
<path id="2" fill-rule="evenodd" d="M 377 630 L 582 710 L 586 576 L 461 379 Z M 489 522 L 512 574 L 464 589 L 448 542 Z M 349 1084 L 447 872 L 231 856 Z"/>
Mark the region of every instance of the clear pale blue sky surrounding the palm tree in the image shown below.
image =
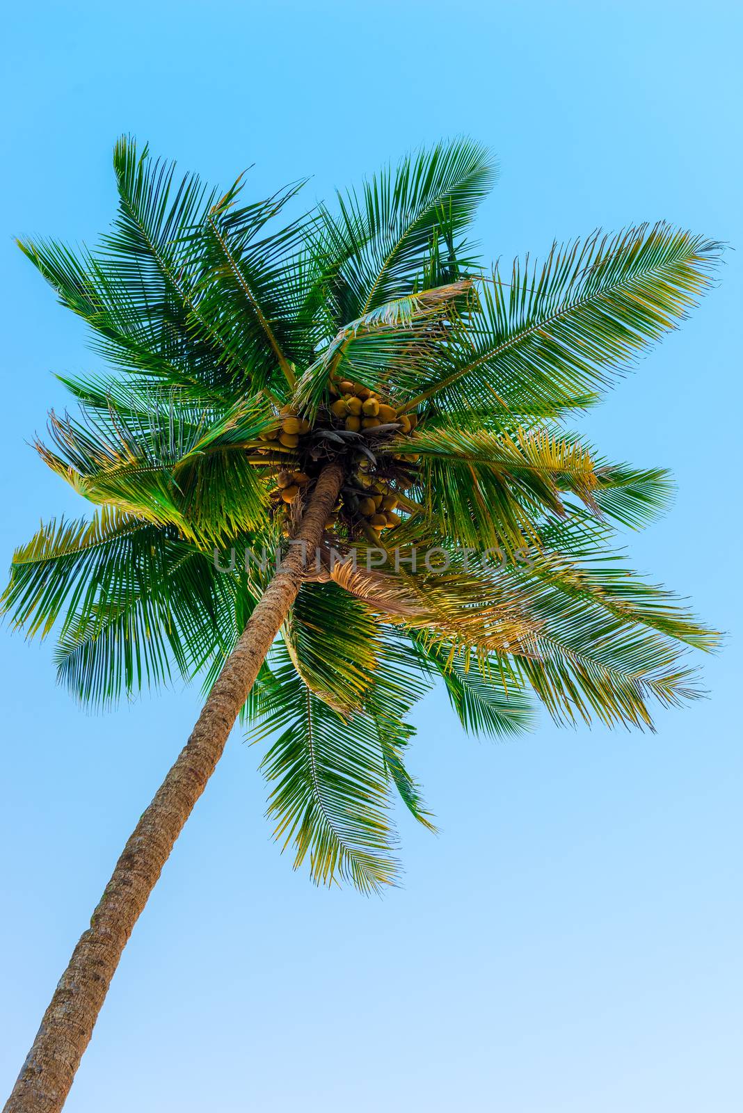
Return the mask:
<path id="1" fill-rule="evenodd" d="M 677 477 L 672 512 L 628 544 L 731 632 L 710 699 L 655 736 L 543 717 L 495 745 L 432 695 L 412 766 L 440 835 L 399 815 L 406 885 L 382 900 L 293 873 L 236 731 L 69 1113 L 740 1111 L 740 4 L 39 0 L 4 22 L 3 564 L 40 518 L 79 512 L 26 442 L 62 402 L 50 372 L 99 366 L 11 237 L 93 239 L 122 131 L 215 183 L 255 162 L 256 198 L 313 175 L 309 200 L 464 131 L 502 169 L 486 255 L 661 217 L 739 248 L 585 425 Z M 199 702 L 88 716 L 50 652 L 0 633 L 3 1097 Z"/>

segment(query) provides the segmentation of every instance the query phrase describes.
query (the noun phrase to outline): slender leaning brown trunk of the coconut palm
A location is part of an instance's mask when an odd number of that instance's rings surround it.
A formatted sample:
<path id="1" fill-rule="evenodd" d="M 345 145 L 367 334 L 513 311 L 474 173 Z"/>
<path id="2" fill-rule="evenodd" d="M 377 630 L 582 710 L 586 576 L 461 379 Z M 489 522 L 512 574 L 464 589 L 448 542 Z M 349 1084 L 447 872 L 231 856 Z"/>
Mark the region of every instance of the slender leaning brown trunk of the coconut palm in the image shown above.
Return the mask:
<path id="1" fill-rule="evenodd" d="M 329 464 L 297 539 L 318 544 L 343 472 Z M 188 742 L 141 816 L 72 952 L 3 1113 L 58 1113 L 72 1085 L 131 930 L 174 843 L 206 788 L 260 664 L 297 597 L 306 569 L 291 546 L 209 692 Z"/>

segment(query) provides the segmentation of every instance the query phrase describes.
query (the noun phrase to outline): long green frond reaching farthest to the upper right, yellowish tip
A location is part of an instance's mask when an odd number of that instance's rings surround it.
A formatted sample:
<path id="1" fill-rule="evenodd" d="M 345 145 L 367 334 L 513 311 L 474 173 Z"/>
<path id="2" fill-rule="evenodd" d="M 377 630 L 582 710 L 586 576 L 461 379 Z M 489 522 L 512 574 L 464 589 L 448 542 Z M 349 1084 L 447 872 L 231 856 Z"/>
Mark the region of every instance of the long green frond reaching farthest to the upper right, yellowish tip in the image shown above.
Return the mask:
<path id="1" fill-rule="evenodd" d="M 553 246 L 542 267 L 516 260 L 482 285 L 481 312 L 439 345 L 423 373 L 400 371 L 413 410 L 502 406 L 559 415 L 676 327 L 711 283 L 720 244 L 665 224 Z"/>

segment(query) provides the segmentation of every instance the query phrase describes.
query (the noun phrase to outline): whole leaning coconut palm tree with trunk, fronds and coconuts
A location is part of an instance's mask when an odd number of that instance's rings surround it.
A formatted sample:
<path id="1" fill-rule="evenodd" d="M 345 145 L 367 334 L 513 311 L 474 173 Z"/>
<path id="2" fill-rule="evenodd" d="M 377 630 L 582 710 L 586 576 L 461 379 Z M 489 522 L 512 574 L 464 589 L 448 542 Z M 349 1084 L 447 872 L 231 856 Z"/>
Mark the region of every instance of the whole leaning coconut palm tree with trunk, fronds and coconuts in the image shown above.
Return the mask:
<path id="1" fill-rule="evenodd" d="M 614 550 L 670 480 L 569 431 L 710 285 L 719 245 L 665 225 L 485 269 L 466 235 L 493 165 L 442 144 L 297 215 L 121 139 L 96 250 L 21 248 L 109 365 L 65 378 L 42 460 L 92 502 L 13 558 L 3 598 L 55 632 L 86 702 L 200 678 L 206 700 L 77 944 L 6 1106 L 61 1109 L 126 942 L 227 737 L 270 739 L 268 815 L 295 866 L 395 884 L 410 710 L 462 725 L 652 726 L 715 636 Z M 291 213 L 289 218 L 285 213 Z M 112 371 L 110 370 L 112 367 Z M 279 554 L 275 567 L 275 553 Z"/>

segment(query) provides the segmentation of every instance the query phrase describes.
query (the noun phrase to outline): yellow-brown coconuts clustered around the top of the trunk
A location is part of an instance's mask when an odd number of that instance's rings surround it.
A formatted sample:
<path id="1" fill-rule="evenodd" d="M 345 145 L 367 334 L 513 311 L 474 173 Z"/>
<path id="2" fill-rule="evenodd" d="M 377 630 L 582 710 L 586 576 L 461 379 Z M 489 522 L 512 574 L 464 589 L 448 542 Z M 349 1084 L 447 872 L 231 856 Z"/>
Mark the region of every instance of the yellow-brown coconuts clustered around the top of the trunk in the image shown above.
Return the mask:
<path id="1" fill-rule="evenodd" d="M 403 521 L 400 499 L 416 482 L 415 461 L 395 454 L 390 442 L 400 434 L 413 436 L 417 415 L 398 414 L 378 392 L 348 380 L 333 380 L 329 393 L 314 424 L 288 405 L 261 434 L 258 452 L 277 469 L 274 513 L 283 516 L 283 532 L 291 536 L 317 475 L 333 460 L 345 477 L 326 529 L 344 540 L 379 536 Z"/>

